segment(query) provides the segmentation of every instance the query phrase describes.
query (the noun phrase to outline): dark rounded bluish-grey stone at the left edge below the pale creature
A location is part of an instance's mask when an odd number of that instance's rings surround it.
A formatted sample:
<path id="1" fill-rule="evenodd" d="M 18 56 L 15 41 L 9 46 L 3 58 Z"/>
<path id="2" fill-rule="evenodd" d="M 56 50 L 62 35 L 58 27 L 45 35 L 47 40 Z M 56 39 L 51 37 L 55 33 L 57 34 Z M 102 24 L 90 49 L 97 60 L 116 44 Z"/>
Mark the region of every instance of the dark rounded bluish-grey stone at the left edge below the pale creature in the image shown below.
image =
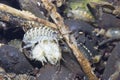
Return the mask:
<path id="1" fill-rule="evenodd" d="M 6 72 L 29 73 L 33 67 L 18 49 L 0 43 L 0 66 Z"/>

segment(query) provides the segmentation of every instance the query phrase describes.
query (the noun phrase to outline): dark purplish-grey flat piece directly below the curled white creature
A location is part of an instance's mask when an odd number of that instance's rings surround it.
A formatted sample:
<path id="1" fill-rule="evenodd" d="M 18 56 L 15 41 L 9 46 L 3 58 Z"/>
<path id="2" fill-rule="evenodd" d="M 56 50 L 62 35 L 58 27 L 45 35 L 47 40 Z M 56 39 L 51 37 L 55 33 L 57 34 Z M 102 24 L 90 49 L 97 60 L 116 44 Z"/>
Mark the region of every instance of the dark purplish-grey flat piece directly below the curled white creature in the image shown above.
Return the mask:
<path id="1" fill-rule="evenodd" d="M 42 67 L 37 74 L 37 80 L 82 80 L 85 74 L 82 72 L 75 57 L 65 53 L 63 58 L 65 60 L 59 66 L 46 64 Z"/>

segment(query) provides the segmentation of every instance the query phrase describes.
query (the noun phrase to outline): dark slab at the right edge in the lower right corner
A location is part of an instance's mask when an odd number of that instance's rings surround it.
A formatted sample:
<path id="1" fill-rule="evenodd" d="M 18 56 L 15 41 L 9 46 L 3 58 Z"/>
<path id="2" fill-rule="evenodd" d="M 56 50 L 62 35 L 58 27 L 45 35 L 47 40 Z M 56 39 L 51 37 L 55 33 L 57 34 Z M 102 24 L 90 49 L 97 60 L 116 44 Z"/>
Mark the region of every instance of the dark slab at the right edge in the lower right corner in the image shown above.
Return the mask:
<path id="1" fill-rule="evenodd" d="M 102 80 L 119 80 L 120 79 L 120 42 L 117 43 L 116 47 L 111 52 L 105 71 L 102 76 Z"/>

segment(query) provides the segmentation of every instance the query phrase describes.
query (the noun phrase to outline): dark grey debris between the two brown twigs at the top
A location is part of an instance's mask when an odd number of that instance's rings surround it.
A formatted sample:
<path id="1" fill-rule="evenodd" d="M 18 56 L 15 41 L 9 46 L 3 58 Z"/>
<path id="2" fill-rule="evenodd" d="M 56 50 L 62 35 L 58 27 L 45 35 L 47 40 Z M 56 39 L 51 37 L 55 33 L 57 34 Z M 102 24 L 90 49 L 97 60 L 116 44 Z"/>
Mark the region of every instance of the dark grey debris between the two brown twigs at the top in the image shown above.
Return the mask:
<path id="1" fill-rule="evenodd" d="M 25 11 L 30 11 L 34 13 L 35 16 L 42 19 L 46 19 L 43 14 L 42 5 L 40 5 L 40 0 L 17 0 L 19 2 L 20 8 Z M 27 5 L 26 5 L 27 4 Z"/>

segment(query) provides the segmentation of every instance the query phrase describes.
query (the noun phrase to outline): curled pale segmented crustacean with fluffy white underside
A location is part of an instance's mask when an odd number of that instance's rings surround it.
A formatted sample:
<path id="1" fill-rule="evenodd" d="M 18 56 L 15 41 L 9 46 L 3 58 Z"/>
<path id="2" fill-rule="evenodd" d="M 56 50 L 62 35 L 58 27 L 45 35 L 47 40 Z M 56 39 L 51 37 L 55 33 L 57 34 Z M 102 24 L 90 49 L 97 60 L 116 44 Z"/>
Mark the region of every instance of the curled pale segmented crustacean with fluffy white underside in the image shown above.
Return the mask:
<path id="1" fill-rule="evenodd" d="M 62 58 L 58 32 L 46 26 L 29 29 L 23 37 L 23 49 L 28 50 L 30 59 L 55 65 Z"/>

